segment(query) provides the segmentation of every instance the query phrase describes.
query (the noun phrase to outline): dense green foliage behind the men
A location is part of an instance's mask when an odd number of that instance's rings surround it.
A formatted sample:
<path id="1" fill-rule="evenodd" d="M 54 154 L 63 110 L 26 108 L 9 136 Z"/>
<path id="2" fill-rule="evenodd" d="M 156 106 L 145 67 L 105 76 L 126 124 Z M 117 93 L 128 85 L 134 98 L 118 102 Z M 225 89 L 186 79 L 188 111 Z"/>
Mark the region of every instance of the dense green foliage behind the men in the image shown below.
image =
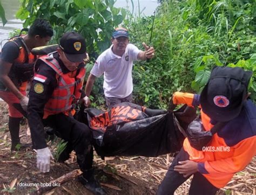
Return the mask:
<path id="1" fill-rule="evenodd" d="M 127 0 L 129 1 L 129 0 Z M 131 0 L 132 5 L 133 1 Z M 177 90 L 200 93 L 213 66 L 238 66 L 253 71 L 249 91 L 256 102 L 256 2 L 254 0 L 161 0 L 156 10 L 151 45 L 156 50 L 149 63 L 133 68 L 134 101 L 151 108 L 166 108 Z M 138 1 L 139 3 L 139 1 Z M 17 18 L 24 27 L 36 18 L 53 26 L 57 43 L 64 32 L 76 30 L 87 41 L 91 57 L 110 46 L 114 27 L 130 31 L 130 42 L 143 50 L 149 44 L 153 17 L 138 17 L 114 8 L 114 0 L 22 0 Z M 0 7 L 1 14 L 4 10 Z M 2 15 L 1 15 L 2 16 Z M 104 104 L 103 78 L 96 80 L 92 106 Z"/>

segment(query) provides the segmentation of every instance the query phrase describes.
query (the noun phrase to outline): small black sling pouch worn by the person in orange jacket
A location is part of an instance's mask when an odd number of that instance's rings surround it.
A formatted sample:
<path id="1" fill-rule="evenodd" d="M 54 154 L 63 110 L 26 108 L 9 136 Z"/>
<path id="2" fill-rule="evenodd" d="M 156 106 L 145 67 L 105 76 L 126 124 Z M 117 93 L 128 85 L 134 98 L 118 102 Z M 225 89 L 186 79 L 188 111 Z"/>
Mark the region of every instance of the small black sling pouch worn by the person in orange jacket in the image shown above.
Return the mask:
<path id="1" fill-rule="evenodd" d="M 225 126 L 227 122 L 217 122 L 215 126 L 206 131 L 200 119 L 192 121 L 187 127 L 187 138 L 193 148 L 202 151 L 203 147 L 210 144 L 212 136 Z"/>

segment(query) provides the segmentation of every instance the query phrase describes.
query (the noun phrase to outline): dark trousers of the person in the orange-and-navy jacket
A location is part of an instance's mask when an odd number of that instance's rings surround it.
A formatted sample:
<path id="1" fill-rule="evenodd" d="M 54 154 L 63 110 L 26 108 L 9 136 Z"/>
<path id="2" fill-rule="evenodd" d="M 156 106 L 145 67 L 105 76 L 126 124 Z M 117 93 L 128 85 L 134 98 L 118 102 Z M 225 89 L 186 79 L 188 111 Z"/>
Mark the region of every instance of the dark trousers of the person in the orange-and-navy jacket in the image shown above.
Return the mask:
<path id="1" fill-rule="evenodd" d="M 183 148 L 181 148 L 179 154 L 174 158 L 170 165 L 164 180 L 158 186 L 157 195 L 173 194 L 176 189 L 183 184 L 189 177 L 183 177 L 179 172 L 174 171 L 174 166 L 178 165 L 179 161 L 186 161 L 189 159 L 189 155 Z M 219 189 L 213 186 L 208 180 L 201 175 L 201 173 L 194 173 L 192 182 L 190 184 L 189 194 L 195 195 L 214 195 Z"/>

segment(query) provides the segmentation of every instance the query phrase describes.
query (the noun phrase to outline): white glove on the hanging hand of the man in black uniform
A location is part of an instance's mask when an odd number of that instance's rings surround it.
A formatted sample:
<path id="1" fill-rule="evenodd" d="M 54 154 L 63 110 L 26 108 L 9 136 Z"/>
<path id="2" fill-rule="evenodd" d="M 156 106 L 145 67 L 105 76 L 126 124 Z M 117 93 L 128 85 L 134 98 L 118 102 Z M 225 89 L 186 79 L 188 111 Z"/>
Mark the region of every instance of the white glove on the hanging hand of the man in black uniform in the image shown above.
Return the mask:
<path id="1" fill-rule="evenodd" d="M 37 150 L 37 168 L 45 173 L 50 171 L 50 159 L 53 159 L 51 151 L 48 147 Z"/>

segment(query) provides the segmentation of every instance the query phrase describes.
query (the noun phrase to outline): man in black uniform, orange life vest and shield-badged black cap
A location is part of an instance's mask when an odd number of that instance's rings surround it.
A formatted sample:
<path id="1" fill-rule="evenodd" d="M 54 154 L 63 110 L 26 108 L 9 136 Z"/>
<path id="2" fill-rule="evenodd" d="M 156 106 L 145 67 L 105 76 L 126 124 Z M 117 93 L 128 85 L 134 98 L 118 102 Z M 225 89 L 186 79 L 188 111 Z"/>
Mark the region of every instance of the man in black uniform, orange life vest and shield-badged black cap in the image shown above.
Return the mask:
<path id="1" fill-rule="evenodd" d="M 105 194 L 93 176 L 92 131 L 73 119 L 72 103 L 80 99 L 86 57 L 84 38 L 76 32 L 68 32 L 60 39 L 56 52 L 36 61 L 36 74 L 29 93 L 28 120 L 40 171 L 50 171 L 52 155 L 44 138 L 44 125 L 47 125 L 76 151 L 77 162 L 83 171 L 80 182 L 93 193 Z"/>

